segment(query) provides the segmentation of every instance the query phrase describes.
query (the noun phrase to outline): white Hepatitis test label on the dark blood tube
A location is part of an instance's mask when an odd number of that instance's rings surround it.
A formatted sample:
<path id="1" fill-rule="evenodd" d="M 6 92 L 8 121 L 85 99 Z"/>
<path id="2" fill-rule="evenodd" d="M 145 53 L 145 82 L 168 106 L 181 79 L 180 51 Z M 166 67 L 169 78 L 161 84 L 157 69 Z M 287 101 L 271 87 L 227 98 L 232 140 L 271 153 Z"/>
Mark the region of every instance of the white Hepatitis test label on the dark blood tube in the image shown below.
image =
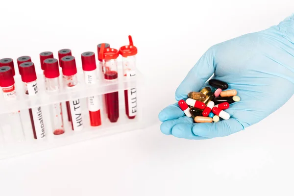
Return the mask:
<path id="1" fill-rule="evenodd" d="M 29 96 L 34 96 L 38 94 L 37 82 L 27 83 L 27 91 Z M 43 121 L 42 109 L 41 107 L 32 108 L 32 116 L 35 124 L 36 137 L 37 139 L 44 138 L 45 135 L 45 126 Z"/>

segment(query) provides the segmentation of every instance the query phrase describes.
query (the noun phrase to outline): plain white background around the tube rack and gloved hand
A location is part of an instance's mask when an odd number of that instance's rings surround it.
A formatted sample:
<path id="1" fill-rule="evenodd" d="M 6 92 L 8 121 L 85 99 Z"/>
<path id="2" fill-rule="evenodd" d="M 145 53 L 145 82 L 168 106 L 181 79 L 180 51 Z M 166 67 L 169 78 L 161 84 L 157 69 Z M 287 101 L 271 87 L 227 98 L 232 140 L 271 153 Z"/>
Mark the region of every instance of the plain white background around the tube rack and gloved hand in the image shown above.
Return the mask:
<path id="1" fill-rule="evenodd" d="M 147 79 L 148 112 L 157 118 L 206 49 L 292 13 L 293 0 L 1 0 L 0 57 L 30 55 L 38 62 L 41 51 L 56 55 L 62 48 L 79 56 L 96 52 L 101 42 L 119 48 L 131 34 Z M 144 130 L 3 160 L 0 195 L 293 196 L 293 107 L 291 99 L 224 138 L 165 136 L 157 121 Z"/>

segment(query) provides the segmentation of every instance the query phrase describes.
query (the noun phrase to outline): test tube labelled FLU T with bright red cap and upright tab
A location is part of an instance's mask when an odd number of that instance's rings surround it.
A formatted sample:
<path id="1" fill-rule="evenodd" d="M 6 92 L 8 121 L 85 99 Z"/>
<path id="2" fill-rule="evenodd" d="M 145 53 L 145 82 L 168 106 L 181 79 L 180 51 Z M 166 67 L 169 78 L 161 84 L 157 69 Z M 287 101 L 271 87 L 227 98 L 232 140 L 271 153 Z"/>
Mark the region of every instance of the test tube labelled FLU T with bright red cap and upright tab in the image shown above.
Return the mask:
<path id="1" fill-rule="evenodd" d="M 120 48 L 123 56 L 123 76 L 131 78 L 136 75 L 137 48 L 133 44 L 132 36 L 128 36 L 129 45 Z M 125 114 L 129 119 L 134 119 L 137 114 L 137 89 L 124 90 Z"/>

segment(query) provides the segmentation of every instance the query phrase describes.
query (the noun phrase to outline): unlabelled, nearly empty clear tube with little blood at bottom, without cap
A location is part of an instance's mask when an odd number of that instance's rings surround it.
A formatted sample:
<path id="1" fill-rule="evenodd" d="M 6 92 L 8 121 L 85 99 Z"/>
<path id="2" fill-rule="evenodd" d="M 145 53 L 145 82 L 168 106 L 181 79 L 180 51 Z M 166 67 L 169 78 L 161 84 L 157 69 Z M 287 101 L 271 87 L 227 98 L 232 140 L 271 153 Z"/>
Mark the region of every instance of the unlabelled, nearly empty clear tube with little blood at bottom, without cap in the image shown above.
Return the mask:
<path id="1" fill-rule="evenodd" d="M 54 92 L 59 90 L 59 78 L 46 78 L 46 90 Z M 64 133 L 63 114 L 61 103 L 54 103 L 50 105 L 50 116 L 54 135 Z"/>

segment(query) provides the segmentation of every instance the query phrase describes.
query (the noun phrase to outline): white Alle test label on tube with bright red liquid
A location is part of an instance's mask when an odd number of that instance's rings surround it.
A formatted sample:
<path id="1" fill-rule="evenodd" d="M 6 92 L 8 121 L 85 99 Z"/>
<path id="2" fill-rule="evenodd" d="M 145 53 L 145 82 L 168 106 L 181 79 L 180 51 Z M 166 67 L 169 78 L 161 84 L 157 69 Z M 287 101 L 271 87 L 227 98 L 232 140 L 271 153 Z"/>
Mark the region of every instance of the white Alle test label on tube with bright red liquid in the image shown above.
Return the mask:
<path id="1" fill-rule="evenodd" d="M 85 78 L 86 84 L 95 84 L 97 81 L 96 75 L 97 75 L 96 70 L 84 71 L 84 78 Z M 99 103 L 100 101 L 98 96 L 92 96 L 87 98 L 88 109 L 91 112 L 96 112 L 100 109 Z"/>

